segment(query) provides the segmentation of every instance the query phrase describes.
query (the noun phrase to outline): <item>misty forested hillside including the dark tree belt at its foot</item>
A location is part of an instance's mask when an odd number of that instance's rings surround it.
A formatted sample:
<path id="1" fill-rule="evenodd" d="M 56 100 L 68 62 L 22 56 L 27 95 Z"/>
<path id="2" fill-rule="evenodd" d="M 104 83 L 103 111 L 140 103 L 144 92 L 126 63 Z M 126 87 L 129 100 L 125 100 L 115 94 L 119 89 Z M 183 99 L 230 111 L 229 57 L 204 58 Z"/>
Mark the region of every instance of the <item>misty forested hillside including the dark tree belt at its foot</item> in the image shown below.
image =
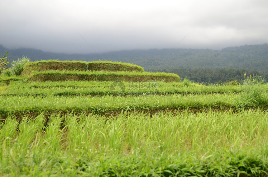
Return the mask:
<path id="1" fill-rule="evenodd" d="M 37 49 L 7 49 L 0 45 L 0 56 L 8 52 L 8 59 L 28 56 L 31 61 L 110 60 L 133 63 L 147 71 L 172 72 L 195 82 L 241 80 L 245 73 L 258 72 L 268 78 L 268 44 L 212 49 L 149 49 L 122 50 L 101 54 L 56 54 Z"/>

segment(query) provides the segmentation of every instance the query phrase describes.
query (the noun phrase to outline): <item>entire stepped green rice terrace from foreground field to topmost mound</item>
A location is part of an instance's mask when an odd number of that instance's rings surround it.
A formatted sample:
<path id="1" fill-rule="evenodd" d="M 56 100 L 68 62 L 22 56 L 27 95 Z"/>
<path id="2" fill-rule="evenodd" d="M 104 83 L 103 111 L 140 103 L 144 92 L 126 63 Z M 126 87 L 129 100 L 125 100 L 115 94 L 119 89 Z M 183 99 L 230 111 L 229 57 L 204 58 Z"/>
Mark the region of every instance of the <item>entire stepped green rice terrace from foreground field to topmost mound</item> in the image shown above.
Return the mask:
<path id="1" fill-rule="evenodd" d="M 267 91 L 21 58 L 0 76 L 0 176 L 267 177 Z"/>

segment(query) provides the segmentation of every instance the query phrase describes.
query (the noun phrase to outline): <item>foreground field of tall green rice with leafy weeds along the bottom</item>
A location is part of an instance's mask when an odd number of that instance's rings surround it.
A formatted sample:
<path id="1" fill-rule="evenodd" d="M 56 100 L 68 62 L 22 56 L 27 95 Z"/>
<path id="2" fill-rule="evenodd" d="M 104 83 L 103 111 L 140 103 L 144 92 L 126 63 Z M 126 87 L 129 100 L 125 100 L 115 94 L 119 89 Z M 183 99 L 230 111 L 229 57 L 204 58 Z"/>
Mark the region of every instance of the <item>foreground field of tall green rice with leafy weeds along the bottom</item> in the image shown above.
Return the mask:
<path id="1" fill-rule="evenodd" d="M 213 110 L 12 116 L 0 124 L 4 176 L 265 176 L 268 114 Z"/>

